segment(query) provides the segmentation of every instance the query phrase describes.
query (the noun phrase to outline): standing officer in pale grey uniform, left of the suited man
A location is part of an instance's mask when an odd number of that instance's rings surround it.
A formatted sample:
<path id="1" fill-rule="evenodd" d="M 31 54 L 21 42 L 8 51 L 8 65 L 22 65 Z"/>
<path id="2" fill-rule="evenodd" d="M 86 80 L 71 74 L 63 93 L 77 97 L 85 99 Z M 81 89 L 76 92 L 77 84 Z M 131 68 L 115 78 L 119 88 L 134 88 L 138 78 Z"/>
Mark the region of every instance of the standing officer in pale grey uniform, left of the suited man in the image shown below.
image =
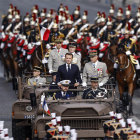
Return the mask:
<path id="1" fill-rule="evenodd" d="M 68 50 L 61 47 L 62 42 L 61 38 L 57 38 L 55 40 L 56 49 L 50 51 L 48 59 L 49 73 L 57 71 L 60 65 L 65 64 L 65 54 Z"/>

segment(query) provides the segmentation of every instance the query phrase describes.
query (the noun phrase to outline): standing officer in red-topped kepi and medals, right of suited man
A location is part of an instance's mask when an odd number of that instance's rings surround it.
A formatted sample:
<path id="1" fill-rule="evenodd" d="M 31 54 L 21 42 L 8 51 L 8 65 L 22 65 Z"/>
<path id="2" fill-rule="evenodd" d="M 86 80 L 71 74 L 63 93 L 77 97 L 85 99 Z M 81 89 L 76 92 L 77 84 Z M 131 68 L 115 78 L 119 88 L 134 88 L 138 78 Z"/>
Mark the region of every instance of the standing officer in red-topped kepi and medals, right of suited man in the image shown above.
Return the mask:
<path id="1" fill-rule="evenodd" d="M 83 70 L 83 86 L 87 86 L 92 75 L 98 75 L 99 87 L 103 86 L 109 79 L 106 64 L 98 61 L 97 50 L 89 51 L 90 62 L 85 64 Z"/>

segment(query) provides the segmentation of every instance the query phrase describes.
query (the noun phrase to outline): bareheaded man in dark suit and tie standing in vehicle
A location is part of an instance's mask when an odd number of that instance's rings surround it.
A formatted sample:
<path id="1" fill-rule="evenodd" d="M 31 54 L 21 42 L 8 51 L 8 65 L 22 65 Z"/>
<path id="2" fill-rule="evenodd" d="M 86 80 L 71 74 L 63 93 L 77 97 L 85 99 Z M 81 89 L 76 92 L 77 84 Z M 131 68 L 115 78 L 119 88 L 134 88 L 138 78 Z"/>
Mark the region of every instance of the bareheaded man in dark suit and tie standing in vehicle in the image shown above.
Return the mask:
<path id="1" fill-rule="evenodd" d="M 59 66 L 57 75 L 56 75 L 56 83 L 59 87 L 61 87 L 60 81 L 62 80 L 70 80 L 71 84 L 70 89 L 77 88 L 79 84 L 82 82 L 80 71 L 77 65 L 71 64 L 73 60 L 73 55 L 71 53 L 65 54 L 66 64 Z M 76 94 L 76 93 L 75 93 Z"/>

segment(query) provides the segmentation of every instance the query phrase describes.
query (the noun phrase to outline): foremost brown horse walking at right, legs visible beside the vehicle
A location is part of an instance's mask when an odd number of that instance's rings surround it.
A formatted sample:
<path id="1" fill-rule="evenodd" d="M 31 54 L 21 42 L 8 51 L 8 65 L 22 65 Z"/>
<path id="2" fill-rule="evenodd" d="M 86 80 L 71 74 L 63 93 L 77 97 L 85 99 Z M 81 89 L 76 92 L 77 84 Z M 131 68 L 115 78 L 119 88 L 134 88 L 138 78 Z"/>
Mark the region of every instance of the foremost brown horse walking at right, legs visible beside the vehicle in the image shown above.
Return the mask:
<path id="1" fill-rule="evenodd" d="M 126 92 L 125 89 L 128 87 L 129 93 L 129 115 L 133 115 L 132 111 L 132 97 L 134 94 L 134 89 L 136 85 L 136 78 L 134 73 L 133 65 L 127 58 L 126 54 L 121 51 L 117 55 L 119 70 L 117 72 L 116 78 L 118 82 L 118 88 L 120 93 L 120 99 L 122 100 L 122 93 Z"/>

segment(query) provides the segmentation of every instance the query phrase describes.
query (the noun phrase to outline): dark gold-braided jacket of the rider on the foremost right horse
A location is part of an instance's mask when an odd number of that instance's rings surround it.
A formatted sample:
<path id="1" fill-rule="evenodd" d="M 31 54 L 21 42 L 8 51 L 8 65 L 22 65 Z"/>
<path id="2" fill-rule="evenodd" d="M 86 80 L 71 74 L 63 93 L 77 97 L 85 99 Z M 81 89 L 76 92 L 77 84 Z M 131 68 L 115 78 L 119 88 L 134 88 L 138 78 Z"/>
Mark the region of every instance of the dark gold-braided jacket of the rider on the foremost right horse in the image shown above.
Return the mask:
<path id="1" fill-rule="evenodd" d="M 129 50 L 133 54 L 137 50 L 136 40 L 132 39 L 132 38 L 128 38 L 127 40 L 126 39 L 122 39 L 120 41 L 120 44 L 119 44 L 118 48 L 119 49 L 124 49 L 125 51 Z"/>

